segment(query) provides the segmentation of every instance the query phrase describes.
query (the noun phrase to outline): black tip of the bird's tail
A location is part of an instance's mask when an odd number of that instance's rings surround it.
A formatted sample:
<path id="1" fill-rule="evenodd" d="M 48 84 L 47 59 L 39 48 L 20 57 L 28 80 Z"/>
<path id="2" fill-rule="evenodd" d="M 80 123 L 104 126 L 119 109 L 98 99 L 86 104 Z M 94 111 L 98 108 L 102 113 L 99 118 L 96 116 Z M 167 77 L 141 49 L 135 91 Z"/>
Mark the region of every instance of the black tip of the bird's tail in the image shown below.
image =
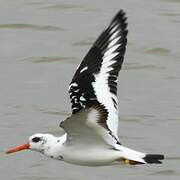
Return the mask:
<path id="1" fill-rule="evenodd" d="M 162 155 L 162 154 L 147 154 L 143 159 L 149 164 L 161 164 L 162 162 L 160 160 L 164 159 L 164 155 Z"/>

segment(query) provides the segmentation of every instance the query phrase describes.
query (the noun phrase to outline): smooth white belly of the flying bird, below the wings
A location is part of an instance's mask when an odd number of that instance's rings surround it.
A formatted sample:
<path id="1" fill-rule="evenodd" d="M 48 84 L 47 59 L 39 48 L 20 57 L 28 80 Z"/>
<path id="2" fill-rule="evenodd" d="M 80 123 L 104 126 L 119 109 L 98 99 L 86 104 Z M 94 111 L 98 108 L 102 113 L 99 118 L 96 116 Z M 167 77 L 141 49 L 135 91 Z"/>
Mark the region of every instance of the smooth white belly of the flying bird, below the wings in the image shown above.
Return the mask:
<path id="1" fill-rule="evenodd" d="M 120 159 L 121 151 L 114 149 L 72 149 L 65 148 L 62 153 L 63 161 L 85 166 L 109 165 Z"/>

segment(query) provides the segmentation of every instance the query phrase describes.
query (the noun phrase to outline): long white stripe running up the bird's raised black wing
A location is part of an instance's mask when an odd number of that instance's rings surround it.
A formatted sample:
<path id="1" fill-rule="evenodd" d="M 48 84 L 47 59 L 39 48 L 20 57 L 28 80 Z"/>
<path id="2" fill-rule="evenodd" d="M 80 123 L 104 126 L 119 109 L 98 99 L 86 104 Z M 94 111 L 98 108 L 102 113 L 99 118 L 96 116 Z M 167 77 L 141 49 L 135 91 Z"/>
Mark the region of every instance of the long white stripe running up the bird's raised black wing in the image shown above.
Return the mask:
<path id="1" fill-rule="evenodd" d="M 118 137 L 118 134 L 117 134 L 118 133 L 118 110 L 114 107 L 114 102 L 112 101 L 112 98 L 113 98 L 117 104 L 117 97 L 113 93 L 110 92 L 110 88 L 108 86 L 108 77 L 109 77 L 109 72 L 113 70 L 111 66 L 116 62 L 115 60 L 113 60 L 113 58 L 116 57 L 116 55 L 118 54 L 115 51 L 120 45 L 118 44 L 118 45 L 113 46 L 114 43 L 117 42 L 117 40 L 114 41 L 113 43 L 112 42 L 109 44 L 111 48 L 107 52 L 105 52 L 103 56 L 103 62 L 102 62 L 100 73 L 97 75 L 96 74 L 94 75 L 95 82 L 93 82 L 92 85 L 94 87 L 97 100 L 100 103 L 104 104 L 109 112 L 108 119 L 107 119 L 107 124 L 109 128 L 114 133 L 114 135 Z"/>

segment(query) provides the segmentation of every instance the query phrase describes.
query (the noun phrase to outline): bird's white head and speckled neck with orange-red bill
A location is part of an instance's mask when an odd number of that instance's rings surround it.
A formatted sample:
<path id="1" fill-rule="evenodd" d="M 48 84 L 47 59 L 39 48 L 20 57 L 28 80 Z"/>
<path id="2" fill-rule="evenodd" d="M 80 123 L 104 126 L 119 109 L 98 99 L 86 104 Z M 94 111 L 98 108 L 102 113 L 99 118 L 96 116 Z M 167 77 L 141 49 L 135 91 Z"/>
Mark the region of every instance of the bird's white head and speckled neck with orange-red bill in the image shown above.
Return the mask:
<path id="1" fill-rule="evenodd" d="M 55 137 L 52 134 L 37 133 L 29 137 L 26 144 L 14 147 L 6 151 L 7 154 L 30 149 L 43 153 L 47 156 L 56 158 L 59 155 L 60 148 L 66 141 L 67 134 L 61 137 Z"/>

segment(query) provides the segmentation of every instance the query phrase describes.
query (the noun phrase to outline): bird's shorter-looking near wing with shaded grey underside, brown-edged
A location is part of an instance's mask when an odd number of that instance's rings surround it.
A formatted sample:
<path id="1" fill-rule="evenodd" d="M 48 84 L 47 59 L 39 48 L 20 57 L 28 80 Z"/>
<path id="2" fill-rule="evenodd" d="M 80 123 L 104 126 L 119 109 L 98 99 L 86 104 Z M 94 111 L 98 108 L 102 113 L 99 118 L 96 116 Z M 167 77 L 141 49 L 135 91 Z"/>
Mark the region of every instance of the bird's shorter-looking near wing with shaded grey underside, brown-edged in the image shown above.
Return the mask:
<path id="1" fill-rule="evenodd" d="M 81 148 L 120 145 L 107 126 L 107 118 L 107 110 L 97 101 L 72 114 L 60 124 L 60 127 L 67 132 L 66 143 Z"/>

